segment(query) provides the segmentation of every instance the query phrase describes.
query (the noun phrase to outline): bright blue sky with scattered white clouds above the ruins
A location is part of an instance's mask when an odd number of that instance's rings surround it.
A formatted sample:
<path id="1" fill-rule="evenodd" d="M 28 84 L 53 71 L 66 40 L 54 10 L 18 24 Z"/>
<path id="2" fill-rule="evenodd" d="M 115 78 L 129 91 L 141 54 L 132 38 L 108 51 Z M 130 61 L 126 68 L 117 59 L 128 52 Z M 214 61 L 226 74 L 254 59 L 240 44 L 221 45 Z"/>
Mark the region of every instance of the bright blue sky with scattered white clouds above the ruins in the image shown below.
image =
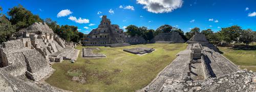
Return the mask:
<path id="1" fill-rule="evenodd" d="M 184 32 L 195 27 L 216 32 L 239 25 L 256 31 L 255 0 L 0 0 L 4 13 L 18 4 L 59 25 L 77 26 L 86 34 L 98 27 L 101 15 L 107 15 L 120 28 L 136 25 L 155 30 L 167 24 Z"/>

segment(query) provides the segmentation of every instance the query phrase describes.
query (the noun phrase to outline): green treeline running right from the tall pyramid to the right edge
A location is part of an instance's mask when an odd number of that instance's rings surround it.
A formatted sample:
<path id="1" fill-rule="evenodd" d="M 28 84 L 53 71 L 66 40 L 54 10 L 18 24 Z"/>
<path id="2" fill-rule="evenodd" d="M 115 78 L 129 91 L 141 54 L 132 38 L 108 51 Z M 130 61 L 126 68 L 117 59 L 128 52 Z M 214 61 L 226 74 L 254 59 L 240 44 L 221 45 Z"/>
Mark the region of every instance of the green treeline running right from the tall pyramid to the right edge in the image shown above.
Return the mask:
<path id="1" fill-rule="evenodd" d="M 183 39 L 188 40 L 196 33 L 203 33 L 206 36 L 206 39 L 217 44 L 217 43 L 245 43 L 248 45 L 251 42 L 256 42 L 256 32 L 252 31 L 251 29 L 243 30 L 240 26 L 234 25 L 227 28 L 222 28 L 218 32 L 214 32 L 211 29 L 202 30 L 200 31 L 199 28 L 191 29 L 190 32 L 184 32 L 181 29 L 163 25 L 160 26 L 156 31 L 153 29 L 148 30 L 146 27 L 137 27 L 134 25 L 130 25 L 125 28 L 126 33 L 131 36 L 141 36 L 145 40 L 151 40 L 154 36 L 158 35 L 159 33 L 170 33 L 170 32 L 178 32 Z"/>

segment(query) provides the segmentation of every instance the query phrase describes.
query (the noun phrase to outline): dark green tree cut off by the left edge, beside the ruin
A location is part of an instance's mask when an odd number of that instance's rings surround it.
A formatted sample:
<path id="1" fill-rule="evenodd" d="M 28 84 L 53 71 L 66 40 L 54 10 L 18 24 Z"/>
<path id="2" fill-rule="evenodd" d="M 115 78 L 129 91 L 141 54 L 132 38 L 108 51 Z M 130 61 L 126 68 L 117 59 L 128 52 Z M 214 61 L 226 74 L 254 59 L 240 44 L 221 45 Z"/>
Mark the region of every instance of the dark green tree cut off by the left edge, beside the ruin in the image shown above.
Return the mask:
<path id="1" fill-rule="evenodd" d="M 7 41 L 12 33 L 15 32 L 15 27 L 11 25 L 11 22 L 5 15 L 0 17 L 0 43 Z"/>

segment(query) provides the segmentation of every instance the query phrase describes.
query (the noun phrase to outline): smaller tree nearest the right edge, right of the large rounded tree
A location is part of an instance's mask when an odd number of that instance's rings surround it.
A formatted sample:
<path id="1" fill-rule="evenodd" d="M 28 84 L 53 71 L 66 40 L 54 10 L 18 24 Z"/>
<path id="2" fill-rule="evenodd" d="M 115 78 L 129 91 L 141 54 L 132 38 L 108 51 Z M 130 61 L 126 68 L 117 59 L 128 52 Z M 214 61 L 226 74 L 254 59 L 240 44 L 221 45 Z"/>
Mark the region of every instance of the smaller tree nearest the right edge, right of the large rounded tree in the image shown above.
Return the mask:
<path id="1" fill-rule="evenodd" d="M 245 43 L 246 46 L 253 41 L 253 33 L 251 29 L 243 30 L 239 40 Z"/>

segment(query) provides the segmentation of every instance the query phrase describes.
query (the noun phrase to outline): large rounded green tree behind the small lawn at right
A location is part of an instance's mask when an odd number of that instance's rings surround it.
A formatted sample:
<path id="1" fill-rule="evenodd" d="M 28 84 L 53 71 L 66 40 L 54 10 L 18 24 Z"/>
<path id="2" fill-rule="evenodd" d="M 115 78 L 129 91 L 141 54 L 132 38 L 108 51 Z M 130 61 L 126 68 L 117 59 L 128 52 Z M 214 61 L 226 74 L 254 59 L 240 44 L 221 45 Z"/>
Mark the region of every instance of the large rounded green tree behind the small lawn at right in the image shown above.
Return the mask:
<path id="1" fill-rule="evenodd" d="M 228 28 L 222 28 L 220 31 L 220 39 L 231 43 L 232 41 L 238 41 L 238 37 L 241 35 L 242 29 L 240 26 L 231 26 Z"/>

